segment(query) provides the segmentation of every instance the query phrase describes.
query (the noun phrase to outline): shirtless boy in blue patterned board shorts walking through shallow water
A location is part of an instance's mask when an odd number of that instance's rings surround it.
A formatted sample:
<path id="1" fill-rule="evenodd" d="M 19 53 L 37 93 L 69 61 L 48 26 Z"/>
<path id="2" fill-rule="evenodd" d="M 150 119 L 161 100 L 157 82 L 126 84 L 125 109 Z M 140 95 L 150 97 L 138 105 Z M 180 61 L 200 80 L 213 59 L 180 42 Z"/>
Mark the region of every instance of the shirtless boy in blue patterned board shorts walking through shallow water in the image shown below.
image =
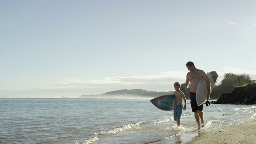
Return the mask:
<path id="1" fill-rule="evenodd" d="M 180 116 L 182 114 L 182 99 L 185 102 L 183 110 L 186 110 L 187 100 L 184 93 L 180 90 L 179 82 L 174 83 L 174 89 L 175 92 L 173 94 L 175 94 L 175 106 L 173 111 L 173 118 L 177 122 L 177 126 L 180 127 Z"/>

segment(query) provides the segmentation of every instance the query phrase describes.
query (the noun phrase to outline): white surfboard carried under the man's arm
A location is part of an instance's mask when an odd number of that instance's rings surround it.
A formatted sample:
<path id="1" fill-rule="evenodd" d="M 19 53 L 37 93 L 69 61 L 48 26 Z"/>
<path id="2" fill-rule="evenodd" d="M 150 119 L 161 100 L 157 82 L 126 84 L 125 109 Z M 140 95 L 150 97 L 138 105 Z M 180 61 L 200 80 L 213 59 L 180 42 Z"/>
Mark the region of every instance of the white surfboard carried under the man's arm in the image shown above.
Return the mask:
<path id="1" fill-rule="evenodd" d="M 218 80 L 218 74 L 215 71 L 208 72 L 206 74 L 210 80 L 211 86 L 210 86 L 210 92 L 212 92 L 212 89 L 214 88 L 217 80 Z M 204 78 L 199 82 L 198 87 L 196 89 L 196 103 L 198 106 L 203 104 L 206 100 L 206 95 L 207 95 L 207 84 Z"/>

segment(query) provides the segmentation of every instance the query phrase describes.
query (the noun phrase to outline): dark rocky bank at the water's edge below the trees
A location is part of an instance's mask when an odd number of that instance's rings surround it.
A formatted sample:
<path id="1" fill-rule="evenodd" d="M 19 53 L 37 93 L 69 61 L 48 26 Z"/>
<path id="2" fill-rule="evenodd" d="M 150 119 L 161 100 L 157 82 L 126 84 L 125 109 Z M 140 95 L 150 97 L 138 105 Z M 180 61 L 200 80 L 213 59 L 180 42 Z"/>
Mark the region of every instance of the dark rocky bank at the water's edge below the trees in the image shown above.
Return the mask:
<path id="1" fill-rule="evenodd" d="M 212 104 L 256 104 L 256 83 L 238 86 L 231 93 L 221 94 Z"/>

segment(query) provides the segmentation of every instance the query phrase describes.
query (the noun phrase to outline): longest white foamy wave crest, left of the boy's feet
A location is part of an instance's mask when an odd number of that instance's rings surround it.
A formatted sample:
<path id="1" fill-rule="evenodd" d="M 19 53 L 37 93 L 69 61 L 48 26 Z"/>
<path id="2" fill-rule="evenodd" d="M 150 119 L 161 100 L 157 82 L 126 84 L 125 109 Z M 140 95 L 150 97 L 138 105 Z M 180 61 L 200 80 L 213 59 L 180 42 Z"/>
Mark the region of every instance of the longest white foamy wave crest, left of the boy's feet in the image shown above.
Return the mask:
<path id="1" fill-rule="evenodd" d="M 140 124 L 145 123 L 145 122 L 146 121 L 142 121 L 142 122 L 138 122 L 138 123 L 134 123 L 134 124 L 127 124 L 127 125 L 124 125 L 124 126 L 120 126 L 118 128 L 110 129 L 110 130 L 103 130 L 101 132 L 96 132 L 94 135 L 98 135 L 98 134 L 116 134 L 116 133 L 122 132 L 124 130 L 130 130 L 133 127 L 136 127 L 136 126 L 140 126 Z"/>

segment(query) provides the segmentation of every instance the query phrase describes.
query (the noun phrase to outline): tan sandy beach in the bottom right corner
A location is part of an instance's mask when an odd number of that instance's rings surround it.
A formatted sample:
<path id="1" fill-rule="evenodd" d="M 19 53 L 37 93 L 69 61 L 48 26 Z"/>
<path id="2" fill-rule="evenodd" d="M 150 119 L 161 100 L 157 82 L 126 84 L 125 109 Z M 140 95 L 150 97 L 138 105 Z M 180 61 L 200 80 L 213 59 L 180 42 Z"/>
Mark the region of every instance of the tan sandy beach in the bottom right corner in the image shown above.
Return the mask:
<path id="1" fill-rule="evenodd" d="M 188 144 L 256 144 L 256 118 L 242 123 L 202 131 Z"/>

